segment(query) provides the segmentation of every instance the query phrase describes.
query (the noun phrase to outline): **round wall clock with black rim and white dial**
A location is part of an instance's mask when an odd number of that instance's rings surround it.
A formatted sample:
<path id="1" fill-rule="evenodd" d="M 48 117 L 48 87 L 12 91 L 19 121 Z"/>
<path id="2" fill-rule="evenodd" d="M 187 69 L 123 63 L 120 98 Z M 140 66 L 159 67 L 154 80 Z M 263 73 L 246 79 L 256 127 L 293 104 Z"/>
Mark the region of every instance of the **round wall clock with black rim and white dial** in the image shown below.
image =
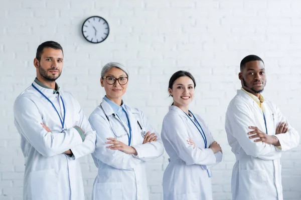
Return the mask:
<path id="1" fill-rule="evenodd" d="M 92 43 L 104 41 L 109 35 L 109 31 L 108 22 L 100 16 L 87 18 L 82 27 L 84 37 Z"/>

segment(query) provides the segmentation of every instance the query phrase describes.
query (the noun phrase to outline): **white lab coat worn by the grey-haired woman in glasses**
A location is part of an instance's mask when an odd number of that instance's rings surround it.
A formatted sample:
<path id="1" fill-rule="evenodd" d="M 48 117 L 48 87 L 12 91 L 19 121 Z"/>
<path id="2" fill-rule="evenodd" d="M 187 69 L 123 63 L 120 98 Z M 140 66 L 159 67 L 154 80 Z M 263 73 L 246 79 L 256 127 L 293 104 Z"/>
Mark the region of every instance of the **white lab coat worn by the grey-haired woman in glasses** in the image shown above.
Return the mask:
<path id="1" fill-rule="evenodd" d="M 155 159 L 163 154 L 164 147 L 160 135 L 156 133 L 157 141 L 142 144 L 143 137 L 137 120 L 146 132 L 153 132 L 154 129 L 141 111 L 125 104 L 132 128 L 130 145 L 136 149 L 138 154 L 134 156 L 120 150 L 106 148 L 106 146 L 112 145 L 104 143 L 108 141 L 108 137 L 115 137 L 126 145 L 128 144 L 128 137 L 123 135 L 126 132 L 119 122 L 120 120 L 113 115 L 114 111 L 111 106 L 104 99 L 101 105 L 97 106 L 89 117 L 92 128 L 96 130 L 96 148 L 92 157 L 98 167 L 92 199 L 147 200 L 145 161 Z M 127 125 L 125 127 L 128 132 Z M 116 135 L 123 136 L 116 137 L 112 130 Z"/>

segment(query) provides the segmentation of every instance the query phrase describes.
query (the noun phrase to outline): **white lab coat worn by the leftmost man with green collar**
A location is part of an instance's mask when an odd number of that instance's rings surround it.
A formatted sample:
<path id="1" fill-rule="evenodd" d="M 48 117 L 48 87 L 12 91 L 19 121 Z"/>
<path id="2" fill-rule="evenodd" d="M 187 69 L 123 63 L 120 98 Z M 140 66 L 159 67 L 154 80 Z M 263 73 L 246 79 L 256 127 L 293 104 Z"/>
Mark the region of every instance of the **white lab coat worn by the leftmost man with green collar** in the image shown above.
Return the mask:
<path id="1" fill-rule="evenodd" d="M 16 99 L 14 104 L 15 125 L 21 134 L 21 148 L 25 157 L 24 198 L 25 200 L 83 200 L 84 188 L 77 158 L 89 154 L 95 149 L 95 131 L 74 96 L 60 90 L 40 89 L 56 106 L 63 116 L 63 97 L 66 117 L 65 131 L 59 116 L 51 103 L 33 86 L 28 87 Z M 47 125 L 47 132 L 41 123 Z M 85 131 L 85 140 L 73 128 L 78 125 Z M 71 149 L 73 156 L 63 152 Z"/>

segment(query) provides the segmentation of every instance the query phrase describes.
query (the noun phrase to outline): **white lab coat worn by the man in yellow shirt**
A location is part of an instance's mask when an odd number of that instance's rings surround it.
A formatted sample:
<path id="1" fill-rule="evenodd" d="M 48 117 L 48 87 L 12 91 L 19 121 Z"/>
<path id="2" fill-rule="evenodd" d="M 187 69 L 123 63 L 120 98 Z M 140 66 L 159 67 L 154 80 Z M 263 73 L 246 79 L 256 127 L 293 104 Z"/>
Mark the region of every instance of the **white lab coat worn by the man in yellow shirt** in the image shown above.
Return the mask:
<path id="1" fill-rule="evenodd" d="M 286 119 L 270 101 L 264 100 L 262 105 L 267 132 L 269 135 L 275 135 L 278 123 Z M 263 113 L 245 91 L 237 90 L 237 95 L 228 106 L 225 121 L 228 141 L 236 156 L 232 172 L 232 198 L 281 200 L 281 151 L 296 147 L 299 134 L 288 124 L 288 132 L 275 135 L 280 141 L 280 150 L 272 144 L 254 142 L 255 138 L 250 139 L 247 133 L 252 129 L 248 126 L 257 126 L 265 132 Z"/>

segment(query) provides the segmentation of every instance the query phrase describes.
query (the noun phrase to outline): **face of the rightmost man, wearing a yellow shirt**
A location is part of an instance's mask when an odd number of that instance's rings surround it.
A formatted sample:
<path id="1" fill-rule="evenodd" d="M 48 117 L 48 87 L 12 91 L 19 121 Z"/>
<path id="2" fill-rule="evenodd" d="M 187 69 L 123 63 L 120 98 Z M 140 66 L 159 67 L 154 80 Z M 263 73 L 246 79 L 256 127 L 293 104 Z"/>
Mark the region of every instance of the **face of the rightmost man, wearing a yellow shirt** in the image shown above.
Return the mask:
<path id="1" fill-rule="evenodd" d="M 260 60 L 246 62 L 239 79 L 245 90 L 258 97 L 266 84 L 264 63 Z"/>

